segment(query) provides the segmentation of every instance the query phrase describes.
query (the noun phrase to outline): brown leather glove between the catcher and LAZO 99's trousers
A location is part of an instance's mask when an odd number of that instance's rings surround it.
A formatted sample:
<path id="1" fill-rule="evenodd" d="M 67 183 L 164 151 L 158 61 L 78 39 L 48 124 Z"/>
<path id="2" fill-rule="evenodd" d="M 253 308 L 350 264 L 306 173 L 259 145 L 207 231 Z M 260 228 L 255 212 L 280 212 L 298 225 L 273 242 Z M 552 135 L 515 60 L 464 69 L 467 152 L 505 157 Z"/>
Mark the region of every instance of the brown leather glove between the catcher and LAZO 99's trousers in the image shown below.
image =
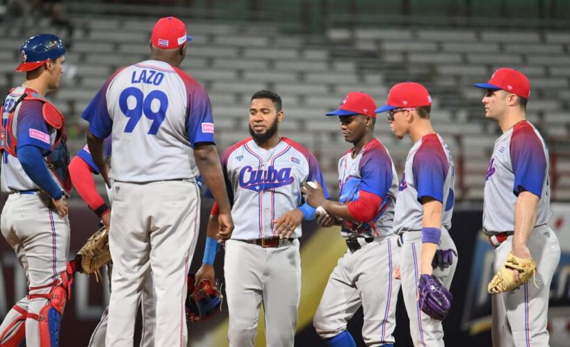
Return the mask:
<path id="1" fill-rule="evenodd" d="M 76 262 L 81 264 L 79 272 L 90 275 L 95 273 L 95 280 L 99 282 L 101 272 L 99 268 L 111 262 L 111 251 L 109 251 L 109 228 L 103 226 L 91 235 L 86 244 L 81 247 L 76 255 Z"/>

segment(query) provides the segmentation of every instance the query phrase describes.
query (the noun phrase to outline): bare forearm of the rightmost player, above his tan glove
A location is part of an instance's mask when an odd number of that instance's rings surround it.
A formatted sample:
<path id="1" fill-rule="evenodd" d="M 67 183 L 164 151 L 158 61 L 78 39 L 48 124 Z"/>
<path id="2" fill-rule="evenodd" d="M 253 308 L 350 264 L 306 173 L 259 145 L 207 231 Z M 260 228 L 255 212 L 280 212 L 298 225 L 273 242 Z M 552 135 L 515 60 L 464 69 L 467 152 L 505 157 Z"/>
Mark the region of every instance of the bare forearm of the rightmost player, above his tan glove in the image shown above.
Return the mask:
<path id="1" fill-rule="evenodd" d="M 526 246 L 532 229 L 537 221 L 537 205 L 539 197 L 531 192 L 519 193 L 514 209 L 513 248 Z"/>

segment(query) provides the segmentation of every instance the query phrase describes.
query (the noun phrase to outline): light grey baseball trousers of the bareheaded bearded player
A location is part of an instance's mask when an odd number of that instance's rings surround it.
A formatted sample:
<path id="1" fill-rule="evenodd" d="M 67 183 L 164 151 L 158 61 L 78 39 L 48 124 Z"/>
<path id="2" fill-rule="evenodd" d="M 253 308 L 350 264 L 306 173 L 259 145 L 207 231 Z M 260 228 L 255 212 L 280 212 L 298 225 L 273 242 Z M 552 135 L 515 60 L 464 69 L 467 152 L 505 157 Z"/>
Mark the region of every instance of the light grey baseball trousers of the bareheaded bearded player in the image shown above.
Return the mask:
<path id="1" fill-rule="evenodd" d="M 266 346 L 293 347 L 301 295 L 299 240 L 275 248 L 228 240 L 224 271 L 229 346 L 254 346 L 263 304 Z"/>

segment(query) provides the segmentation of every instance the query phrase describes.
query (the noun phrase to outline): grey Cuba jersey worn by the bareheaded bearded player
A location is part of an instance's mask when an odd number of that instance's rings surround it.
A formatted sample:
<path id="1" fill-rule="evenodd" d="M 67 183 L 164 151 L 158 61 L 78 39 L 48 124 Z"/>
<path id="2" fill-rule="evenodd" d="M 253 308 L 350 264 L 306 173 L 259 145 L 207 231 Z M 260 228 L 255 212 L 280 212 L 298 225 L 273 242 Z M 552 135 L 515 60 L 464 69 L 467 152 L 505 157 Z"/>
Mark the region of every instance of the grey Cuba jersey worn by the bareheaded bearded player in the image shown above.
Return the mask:
<path id="1" fill-rule="evenodd" d="M 316 180 L 327 187 L 314 155 L 300 144 L 282 137 L 266 150 L 249 137 L 229 147 L 222 157 L 234 219 L 232 239 L 277 237 L 273 221 L 304 203 L 301 187 Z M 292 238 L 301 236 L 299 225 Z"/>

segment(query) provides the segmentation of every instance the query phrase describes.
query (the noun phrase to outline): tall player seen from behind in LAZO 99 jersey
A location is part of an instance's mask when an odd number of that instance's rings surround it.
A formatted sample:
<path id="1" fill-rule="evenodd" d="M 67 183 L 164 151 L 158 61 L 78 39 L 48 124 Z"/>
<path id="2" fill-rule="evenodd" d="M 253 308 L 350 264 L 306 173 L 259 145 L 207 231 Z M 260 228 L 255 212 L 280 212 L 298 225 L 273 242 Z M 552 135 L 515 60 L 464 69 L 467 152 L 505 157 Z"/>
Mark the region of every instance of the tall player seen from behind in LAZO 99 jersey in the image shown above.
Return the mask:
<path id="1" fill-rule="evenodd" d="M 113 180 L 107 346 L 132 346 L 136 308 L 151 269 L 154 345 L 186 346 L 184 301 L 199 225 L 198 170 L 220 205 L 220 229 L 233 228 L 208 94 L 179 69 L 188 40 L 179 19 L 159 19 L 151 58 L 115 72 L 81 116 L 90 122 L 93 160 L 104 180 Z M 108 135 L 115 148 L 110 175 L 103 151 Z"/>

